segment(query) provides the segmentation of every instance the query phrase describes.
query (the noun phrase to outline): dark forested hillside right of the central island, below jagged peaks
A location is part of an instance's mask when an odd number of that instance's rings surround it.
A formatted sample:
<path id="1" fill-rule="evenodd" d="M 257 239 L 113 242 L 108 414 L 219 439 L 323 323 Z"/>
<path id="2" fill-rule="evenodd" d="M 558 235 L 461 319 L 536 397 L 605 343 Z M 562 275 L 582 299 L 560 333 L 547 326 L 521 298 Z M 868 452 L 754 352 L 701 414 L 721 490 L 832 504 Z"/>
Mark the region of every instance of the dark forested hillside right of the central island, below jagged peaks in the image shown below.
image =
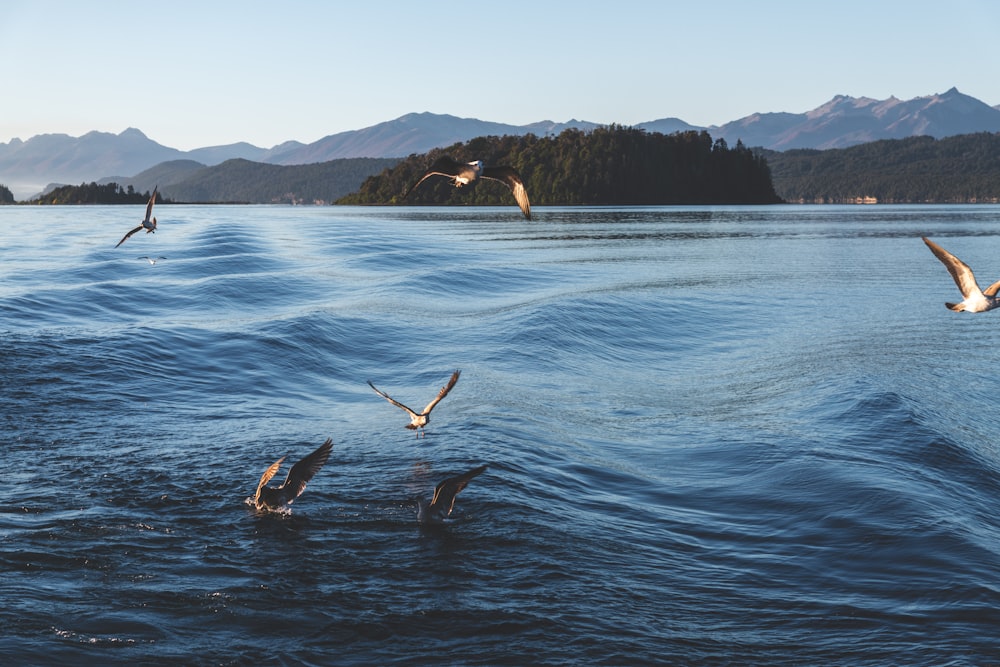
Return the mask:
<path id="1" fill-rule="evenodd" d="M 790 202 L 1000 201 L 1000 134 L 886 139 L 764 155 L 775 190 Z"/>

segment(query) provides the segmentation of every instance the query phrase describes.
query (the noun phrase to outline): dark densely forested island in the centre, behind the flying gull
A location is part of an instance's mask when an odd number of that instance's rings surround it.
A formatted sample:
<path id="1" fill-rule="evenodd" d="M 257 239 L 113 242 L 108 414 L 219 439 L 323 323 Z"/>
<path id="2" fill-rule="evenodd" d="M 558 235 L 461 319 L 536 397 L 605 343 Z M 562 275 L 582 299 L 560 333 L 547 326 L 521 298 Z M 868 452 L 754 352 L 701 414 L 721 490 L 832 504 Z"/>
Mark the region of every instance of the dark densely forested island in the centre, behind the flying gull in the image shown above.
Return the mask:
<path id="1" fill-rule="evenodd" d="M 367 179 L 339 204 L 509 204 L 500 183 L 455 188 L 429 180 L 404 202 L 406 189 L 441 155 L 510 165 L 532 204 L 770 204 L 780 201 L 767 163 L 741 143 L 733 148 L 706 132 L 664 135 L 618 125 L 555 137 L 479 137 L 411 155 Z"/>

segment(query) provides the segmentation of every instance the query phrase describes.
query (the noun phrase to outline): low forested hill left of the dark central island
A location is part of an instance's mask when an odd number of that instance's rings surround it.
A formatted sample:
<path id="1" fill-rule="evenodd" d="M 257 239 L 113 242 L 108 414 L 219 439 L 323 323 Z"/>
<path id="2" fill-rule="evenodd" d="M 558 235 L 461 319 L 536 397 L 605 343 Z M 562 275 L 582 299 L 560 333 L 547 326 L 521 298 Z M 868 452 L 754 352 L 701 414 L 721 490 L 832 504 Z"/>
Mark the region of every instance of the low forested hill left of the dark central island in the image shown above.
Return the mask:
<path id="1" fill-rule="evenodd" d="M 302 165 L 233 159 L 164 187 L 177 201 L 329 204 L 399 158 L 344 158 Z"/>

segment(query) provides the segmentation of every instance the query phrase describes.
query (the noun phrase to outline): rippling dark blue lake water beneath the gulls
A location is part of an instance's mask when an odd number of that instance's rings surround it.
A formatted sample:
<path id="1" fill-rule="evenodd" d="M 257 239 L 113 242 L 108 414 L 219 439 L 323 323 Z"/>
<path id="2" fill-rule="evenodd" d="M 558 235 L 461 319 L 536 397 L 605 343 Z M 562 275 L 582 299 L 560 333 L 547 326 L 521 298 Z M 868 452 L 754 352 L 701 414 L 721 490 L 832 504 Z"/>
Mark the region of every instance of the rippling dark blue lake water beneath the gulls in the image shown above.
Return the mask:
<path id="1" fill-rule="evenodd" d="M 1000 208 L 140 209 L 0 208 L 0 664 L 1000 661 Z"/>

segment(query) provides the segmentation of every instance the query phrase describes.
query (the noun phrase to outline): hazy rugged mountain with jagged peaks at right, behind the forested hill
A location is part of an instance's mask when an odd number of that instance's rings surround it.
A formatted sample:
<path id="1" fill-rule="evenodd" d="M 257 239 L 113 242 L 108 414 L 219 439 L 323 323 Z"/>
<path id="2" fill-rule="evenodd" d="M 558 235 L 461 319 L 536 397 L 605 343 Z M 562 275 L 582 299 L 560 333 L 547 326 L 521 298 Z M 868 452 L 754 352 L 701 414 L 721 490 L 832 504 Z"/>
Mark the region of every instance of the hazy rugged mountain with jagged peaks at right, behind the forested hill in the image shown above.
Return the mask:
<path id="1" fill-rule="evenodd" d="M 708 131 L 730 143 L 740 139 L 778 151 L 846 148 L 879 139 L 1000 132 L 1000 109 L 955 88 L 907 101 L 837 95 L 806 113 L 753 114 Z"/>

